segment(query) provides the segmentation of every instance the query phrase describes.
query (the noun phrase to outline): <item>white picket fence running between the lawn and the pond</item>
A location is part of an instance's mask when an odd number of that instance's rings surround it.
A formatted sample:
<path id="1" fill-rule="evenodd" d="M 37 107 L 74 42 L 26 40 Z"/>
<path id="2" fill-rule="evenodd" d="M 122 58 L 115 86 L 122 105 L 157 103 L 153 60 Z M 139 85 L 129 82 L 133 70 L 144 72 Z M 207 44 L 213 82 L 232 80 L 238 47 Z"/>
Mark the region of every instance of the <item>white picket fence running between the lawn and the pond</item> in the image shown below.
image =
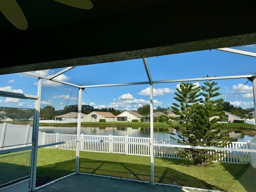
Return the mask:
<path id="1" fill-rule="evenodd" d="M 57 142 L 69 141 L 76 139 L 76 135 L 69 134 L 48 134 L 43 133 L 44 144 L 53 144 Z M 112 136 L 112 135 L 80 135 L 80 150 L 88 152 L 117 153 L 136 156 L 150 156 L 150 138 Z M 123 143 L 122 143 L 123 142 Z M 154 143 L 160 144 L 178 144 L 172 139 L 155 139 Z M 247 142 L 230 142 L 227 148 L 248 149 Z M 75 150 L 76 143 L 70 142 L 60 145 L 49 146 L 47 148 L 60 148 L 66 150 Z M 154 156 L 160 158 L 181 158 L 176 148 L 172 147 L 154 147 Z M 249 162 L 248 152 L 225 151 L 218 154 L 218 161 L 244 164 Z"/>

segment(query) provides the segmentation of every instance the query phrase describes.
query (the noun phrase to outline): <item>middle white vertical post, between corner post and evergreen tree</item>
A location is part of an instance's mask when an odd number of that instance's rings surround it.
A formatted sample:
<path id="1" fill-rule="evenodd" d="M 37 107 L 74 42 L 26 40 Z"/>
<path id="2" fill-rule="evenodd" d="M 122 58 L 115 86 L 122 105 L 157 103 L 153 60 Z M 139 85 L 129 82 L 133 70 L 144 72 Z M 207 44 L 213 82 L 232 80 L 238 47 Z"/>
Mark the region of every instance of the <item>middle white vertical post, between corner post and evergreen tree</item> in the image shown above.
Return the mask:
<path id="1" fill-rule="evenodd" d="M 153 116 L 153 84 L 150 85 L 150 184 L 154 185 L 154 116 Z"/>

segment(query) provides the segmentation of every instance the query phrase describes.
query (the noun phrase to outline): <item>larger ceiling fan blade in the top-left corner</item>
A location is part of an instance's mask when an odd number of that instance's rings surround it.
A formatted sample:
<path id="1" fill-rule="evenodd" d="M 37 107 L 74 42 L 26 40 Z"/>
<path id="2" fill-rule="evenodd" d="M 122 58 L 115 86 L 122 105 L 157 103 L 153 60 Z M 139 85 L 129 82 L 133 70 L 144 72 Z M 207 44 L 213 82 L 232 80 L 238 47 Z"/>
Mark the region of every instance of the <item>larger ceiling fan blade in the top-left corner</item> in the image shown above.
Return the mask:
<path id="1" fill-rule="evenodd" d="M 16 0 L 0 0 L 0 11 L 16 28 L 28 29 L 28 21 Z"/>

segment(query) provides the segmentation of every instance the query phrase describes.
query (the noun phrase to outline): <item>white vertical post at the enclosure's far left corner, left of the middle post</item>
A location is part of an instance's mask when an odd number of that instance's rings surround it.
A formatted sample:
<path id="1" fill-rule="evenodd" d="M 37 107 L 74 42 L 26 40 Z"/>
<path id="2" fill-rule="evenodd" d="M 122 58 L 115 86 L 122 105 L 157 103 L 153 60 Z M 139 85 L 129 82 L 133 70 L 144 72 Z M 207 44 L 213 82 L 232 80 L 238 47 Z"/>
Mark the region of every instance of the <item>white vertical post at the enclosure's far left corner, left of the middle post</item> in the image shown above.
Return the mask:
<path id="1" fill-rule="evenodd" d="M 78 93 L 78 116 L 77 116 L 77 129 L 76 129 L 76 139 L 77 139 L 76 141 L 76 173 L 79 172 L 82 92 L 83 92 L 83 89 L 80 88 Z"/>

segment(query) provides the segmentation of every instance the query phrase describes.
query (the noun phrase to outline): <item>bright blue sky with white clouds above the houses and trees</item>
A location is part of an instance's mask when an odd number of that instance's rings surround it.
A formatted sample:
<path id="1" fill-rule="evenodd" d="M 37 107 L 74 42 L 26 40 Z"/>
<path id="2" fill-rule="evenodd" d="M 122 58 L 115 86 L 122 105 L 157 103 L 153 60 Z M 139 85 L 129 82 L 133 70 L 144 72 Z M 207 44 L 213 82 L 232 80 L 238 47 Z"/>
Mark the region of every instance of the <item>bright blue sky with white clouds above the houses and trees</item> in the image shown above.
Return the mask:
<path id="1" fill-rule="evenodd" d="M 256 45 L 238 47 L 242 50 L 256 52 Z M 254 74 L 256 58 L 218 50 L 204 50 L 183 54 L 147 58 L 153 80 L 169 80 L 182 78 L 198 78 L 210 76 L 231 76 Z M 48 76 L 62 69 L 38 71 Z M 110 62 L 76 68 L 57 77 L 78 85 L 111 84 L 147 81 L 142 59 Z M 37 93 L 37 78 L 24 74 L 7 74 L 0 76 L 0 90 L 26 94 Z M 247 79 L 218 80 L 220 92 L 226 101 L 243 108 L 253 107 L 252 83 L 242 85 Z M 202 85 L 203 82 L 193 82 Z M 154 106 L 168 107 L 175 100 L 174 92 L 178 83 L 154 85 Z M 230 98 L 239 88 L 236 96 Z M 83 92 L 83 104 L 95 108 L 113 107 L 118 109 L 136 110 L 139 106 L 149 103 L 149 85 L 115 86 L 88 88 Z M 54 106 L 57 110 L 69 104 L 77 104 L 78 88 L 43 80 L 42 105 Z M 0 106 L 33 108 L 32 100 L 1 98 Z"/>

